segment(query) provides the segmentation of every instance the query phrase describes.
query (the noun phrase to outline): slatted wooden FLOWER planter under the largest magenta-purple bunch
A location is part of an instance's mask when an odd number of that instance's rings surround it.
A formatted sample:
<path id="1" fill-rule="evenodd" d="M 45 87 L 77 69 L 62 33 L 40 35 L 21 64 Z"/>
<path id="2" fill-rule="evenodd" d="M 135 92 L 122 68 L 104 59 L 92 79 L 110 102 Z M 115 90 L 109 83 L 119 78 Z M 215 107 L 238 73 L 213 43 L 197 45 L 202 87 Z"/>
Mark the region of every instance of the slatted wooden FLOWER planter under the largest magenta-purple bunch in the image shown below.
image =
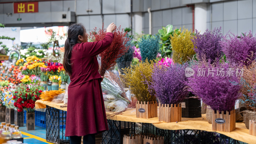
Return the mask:
<path id="1" fill-rule="evenodd" d="M 224 111 L 215 113 L 214 110 L 212 110 L 212 130 L 213 131 L 221 131 L 221 132 L 231 132 L 236 129 L 236 113 L 235 110 L 226 111 L 226 114 L 224 114 Z"/>

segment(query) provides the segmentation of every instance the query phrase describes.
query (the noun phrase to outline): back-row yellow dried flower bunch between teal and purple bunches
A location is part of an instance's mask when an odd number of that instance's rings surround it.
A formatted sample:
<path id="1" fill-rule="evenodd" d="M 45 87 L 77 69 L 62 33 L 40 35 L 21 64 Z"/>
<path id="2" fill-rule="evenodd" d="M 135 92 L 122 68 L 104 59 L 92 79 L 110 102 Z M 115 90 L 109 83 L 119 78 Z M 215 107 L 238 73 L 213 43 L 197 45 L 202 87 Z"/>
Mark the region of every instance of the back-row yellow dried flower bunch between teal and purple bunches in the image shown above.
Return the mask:
<path id="1" fill-rule="evenodd" d="M 172 60 L 173 62 L 178 62 L 182 64 L 192 58 L 195 53 L 193 50 L 194 44 L 191 41 L 192 32 L 183 27 L 179 30 L 178 34 L 174 33 L 171 35 L 171 44 L 172 44 Z"/>

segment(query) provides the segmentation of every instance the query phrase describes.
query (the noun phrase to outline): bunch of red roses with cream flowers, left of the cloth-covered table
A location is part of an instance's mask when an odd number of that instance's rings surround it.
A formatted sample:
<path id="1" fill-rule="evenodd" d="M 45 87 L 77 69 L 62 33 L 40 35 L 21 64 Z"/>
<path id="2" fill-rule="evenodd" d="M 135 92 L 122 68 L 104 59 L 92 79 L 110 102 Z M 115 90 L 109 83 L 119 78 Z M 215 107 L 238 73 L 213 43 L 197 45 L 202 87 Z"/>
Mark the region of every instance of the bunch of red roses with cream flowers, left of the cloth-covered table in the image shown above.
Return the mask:
<path id="1" fill-rule="evenodd" d="M 43 92 L 43 88 L 38 85 L 30 86 L 28 88 L 27 85 L 21 84 L 13 93 L 13 105 L 17 108 L 18 112 L 21 112 L 22 109 L 25 109 L 28 113 L 34 112 L 35 102 L 40 99 L 39 95 Z"/>

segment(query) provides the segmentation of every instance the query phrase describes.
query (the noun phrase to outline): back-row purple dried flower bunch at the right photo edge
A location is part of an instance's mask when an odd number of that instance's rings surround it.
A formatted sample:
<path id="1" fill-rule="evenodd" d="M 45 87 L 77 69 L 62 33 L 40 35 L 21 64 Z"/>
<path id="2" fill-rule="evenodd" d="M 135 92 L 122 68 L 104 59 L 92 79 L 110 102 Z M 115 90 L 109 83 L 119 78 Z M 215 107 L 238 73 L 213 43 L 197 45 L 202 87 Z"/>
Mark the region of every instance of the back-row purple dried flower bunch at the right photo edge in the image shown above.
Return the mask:
<path id="1" fill-rule="evenodd" d="M 253 36 L 252 31 L 248 35 L 241 34 L 240 38 L 228 33 L 220 45 L 230 63 L 248 66 L 256 58 L 256 36 Z"/>

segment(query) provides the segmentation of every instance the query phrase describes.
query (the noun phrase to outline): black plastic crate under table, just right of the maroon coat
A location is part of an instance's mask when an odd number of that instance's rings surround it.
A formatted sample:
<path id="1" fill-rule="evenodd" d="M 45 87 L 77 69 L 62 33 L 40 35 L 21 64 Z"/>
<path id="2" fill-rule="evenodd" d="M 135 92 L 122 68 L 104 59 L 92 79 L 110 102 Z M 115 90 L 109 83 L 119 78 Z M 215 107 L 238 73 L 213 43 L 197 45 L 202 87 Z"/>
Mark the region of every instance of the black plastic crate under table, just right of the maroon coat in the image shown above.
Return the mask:
<path id="1" fill-rule="evenodd" d="M 135 123 L 108 119 L 108 129 L 102 132 L 102 144 L 123 144 L 124 134 L 135 133 Z"/>

